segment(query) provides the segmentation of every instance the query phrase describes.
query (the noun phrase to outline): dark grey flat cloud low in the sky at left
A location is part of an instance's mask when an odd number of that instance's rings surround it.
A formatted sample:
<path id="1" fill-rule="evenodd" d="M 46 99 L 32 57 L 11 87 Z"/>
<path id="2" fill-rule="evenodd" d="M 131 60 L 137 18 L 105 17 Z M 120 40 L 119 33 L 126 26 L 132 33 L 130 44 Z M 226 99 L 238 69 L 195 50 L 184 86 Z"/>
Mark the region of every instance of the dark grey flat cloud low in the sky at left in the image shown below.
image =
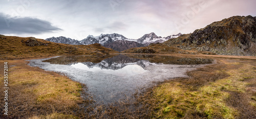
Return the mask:
<path id="1" fill-rule="evenodd" d="M 1 34 L 42 34 L 61 30 L 45 20 L 31 17 L 9 17 L 0 13 Z"/>

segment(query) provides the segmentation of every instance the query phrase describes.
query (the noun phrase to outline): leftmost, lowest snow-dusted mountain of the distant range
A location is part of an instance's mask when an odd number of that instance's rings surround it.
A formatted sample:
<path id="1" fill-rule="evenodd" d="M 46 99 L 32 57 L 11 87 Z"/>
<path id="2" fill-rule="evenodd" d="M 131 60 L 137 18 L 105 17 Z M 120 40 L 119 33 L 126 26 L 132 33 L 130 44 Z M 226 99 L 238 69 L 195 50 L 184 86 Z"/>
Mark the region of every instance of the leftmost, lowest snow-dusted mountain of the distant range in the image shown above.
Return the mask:
<path id="1" fill-rule="evenodd" d="M 55 43 L 64 43 L 64 44 L 71 44 L 71 45 L 82 45 L 78 40 L 71 39 L 71 38 L 66 38 L 66 37 L 52 37 L 45 39 L 50 42 L 55 42 Z"/>

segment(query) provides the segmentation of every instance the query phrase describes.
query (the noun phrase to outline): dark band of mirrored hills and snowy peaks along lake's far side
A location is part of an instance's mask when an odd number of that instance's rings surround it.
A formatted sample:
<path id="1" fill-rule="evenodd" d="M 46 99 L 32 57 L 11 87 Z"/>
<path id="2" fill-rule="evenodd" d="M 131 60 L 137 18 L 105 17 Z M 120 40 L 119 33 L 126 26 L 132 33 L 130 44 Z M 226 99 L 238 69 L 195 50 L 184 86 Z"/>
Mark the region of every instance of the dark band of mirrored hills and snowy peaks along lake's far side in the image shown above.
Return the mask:
<path id="1" fill-rule="evenodd" d="M 193 57 L 176 57 L 168 55 L 153 55 L 153 54 L 111 54 L 104 56 L 93 55 L 76 55 L 76 56 L 59 56 L 56 58 L 47 59 L 42 62 L 51 64 L 72 65 L 82 63 L 89 68 L 99 67 L 101 69 L 121 69 L 127 65 L 139 65 L 145 68 L 154 64 L 168 65 L 198 65 L 211 64 L 214 59 L 193 58 Z"/>

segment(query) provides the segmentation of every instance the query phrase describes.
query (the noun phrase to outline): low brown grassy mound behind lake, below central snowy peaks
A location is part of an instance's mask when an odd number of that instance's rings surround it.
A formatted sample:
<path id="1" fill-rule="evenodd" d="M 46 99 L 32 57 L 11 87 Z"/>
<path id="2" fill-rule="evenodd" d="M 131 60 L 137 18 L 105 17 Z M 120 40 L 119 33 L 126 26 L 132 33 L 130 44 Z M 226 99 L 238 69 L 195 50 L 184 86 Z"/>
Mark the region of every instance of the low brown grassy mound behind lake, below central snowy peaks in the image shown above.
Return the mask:
<path id="1" fill-rule="evenodd" d="M 182 50 L 161 43 L 150 44 L 147 47 L 131 48 L 122 53 L 160 53 L 160 54 L 214 54 L 207 51 Z"/>

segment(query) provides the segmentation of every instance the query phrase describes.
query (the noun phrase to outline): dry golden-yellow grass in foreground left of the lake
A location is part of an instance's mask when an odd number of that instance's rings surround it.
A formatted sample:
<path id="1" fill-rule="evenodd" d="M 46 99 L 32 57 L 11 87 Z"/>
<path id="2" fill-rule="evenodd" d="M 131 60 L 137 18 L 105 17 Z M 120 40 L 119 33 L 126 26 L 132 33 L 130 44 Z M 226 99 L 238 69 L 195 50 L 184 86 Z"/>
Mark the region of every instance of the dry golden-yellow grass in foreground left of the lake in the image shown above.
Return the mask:
<path id="1" fill-rule="evenodd" d="M 8 117 L 28 118 L 49 114 L 49 116 L 62 115 L 65 117 L 66 114 L 73 113 L 72 108 L 83 102 L 80 97 L 83 90 L 80 83 L 54 72 L 30 67 L 24 60 L 5 62 L 8 62 L 9 66 Z M 3 87 L 4 61 L 0 61 L 0 64 L 2 64 L 0 82 Z M 4 89 L 0 90 L 3 92 Z M 3 96 L 0 101 L 1 104 L 4 103 Z M 3 115 L 1 116 L 3 117 Z"/>

